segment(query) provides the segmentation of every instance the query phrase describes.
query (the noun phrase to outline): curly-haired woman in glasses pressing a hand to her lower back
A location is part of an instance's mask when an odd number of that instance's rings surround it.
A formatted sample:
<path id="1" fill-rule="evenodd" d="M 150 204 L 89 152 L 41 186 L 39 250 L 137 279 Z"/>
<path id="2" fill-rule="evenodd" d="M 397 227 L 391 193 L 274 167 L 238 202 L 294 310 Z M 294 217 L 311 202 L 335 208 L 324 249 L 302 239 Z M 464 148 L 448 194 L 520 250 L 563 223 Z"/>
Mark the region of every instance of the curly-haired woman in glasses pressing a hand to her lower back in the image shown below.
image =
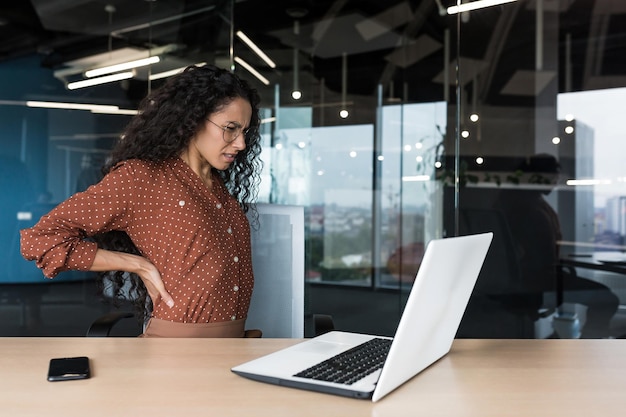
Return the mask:
<path id="1" fill-rule="evenodd" d="M 144 337 L 242 337 L 253 274 L 245 213 L 261 162 L 259 96 L 214 66 L 146 97 L 103 171 L 21 231 L 44 275 L 104 272 L 149 321 Z"/>

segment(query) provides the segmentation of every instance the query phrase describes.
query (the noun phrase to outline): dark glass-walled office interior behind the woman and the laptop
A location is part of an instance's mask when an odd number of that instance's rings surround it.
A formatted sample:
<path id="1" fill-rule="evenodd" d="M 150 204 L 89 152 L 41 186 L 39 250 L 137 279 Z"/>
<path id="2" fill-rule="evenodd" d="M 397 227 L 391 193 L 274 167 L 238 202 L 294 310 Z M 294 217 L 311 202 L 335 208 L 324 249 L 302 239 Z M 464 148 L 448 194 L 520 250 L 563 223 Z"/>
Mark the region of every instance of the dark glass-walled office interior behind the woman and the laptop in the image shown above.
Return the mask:
<path id="1" fill-rule="evenodd" d="M 0 336 L 82 336 L 128 308 L 92 273 L 43 277 L 18 231 L 96 182 L 141 98 L 191 64 L 261 94 L 258 201 L 303 207 L 306 336 L 319 314 L 393 335 L 428 242 L 488 230 L 458 337 L 626 334 L 626 3 L 464 3 L 0 6 Z"/>

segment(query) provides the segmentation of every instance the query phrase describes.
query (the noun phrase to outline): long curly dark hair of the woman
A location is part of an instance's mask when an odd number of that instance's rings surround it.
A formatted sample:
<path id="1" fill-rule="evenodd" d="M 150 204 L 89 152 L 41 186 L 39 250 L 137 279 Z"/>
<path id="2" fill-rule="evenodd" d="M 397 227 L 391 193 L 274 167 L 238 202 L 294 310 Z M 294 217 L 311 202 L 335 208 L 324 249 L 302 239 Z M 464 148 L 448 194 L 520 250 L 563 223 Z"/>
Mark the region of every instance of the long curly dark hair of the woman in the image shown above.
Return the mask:
<path id="1" fill-rule="evenodd" d="M 120 136 L 102 168 L 106 175 L 116 164 L 129 159 L 163 161 L 181 154 L 203 126 L 208 115 L 219 111 L 236 98 L 247 100 L 252 107 L 246 148 L 224 171 L 214 169 L 228 191 L 237 199 L 244 212 L 256 214 L 262 162 L 259 127 L 260 97 L 245 80 L 232 72 L 213 65 L 190 66 L 171 77 L 160 88 L 145 97 Z M 256 218 L 254 216 L 253 218 Z M 94 236 L 103 249 L 140 255 L 125 232 L 113 231 Z M 134 304 L 140 321 L 150 314 L 152 303 L 148 292 L 135 274 L 109 271 L 100 274 L 101 291 L 115 302 L 128 299 Z"/>

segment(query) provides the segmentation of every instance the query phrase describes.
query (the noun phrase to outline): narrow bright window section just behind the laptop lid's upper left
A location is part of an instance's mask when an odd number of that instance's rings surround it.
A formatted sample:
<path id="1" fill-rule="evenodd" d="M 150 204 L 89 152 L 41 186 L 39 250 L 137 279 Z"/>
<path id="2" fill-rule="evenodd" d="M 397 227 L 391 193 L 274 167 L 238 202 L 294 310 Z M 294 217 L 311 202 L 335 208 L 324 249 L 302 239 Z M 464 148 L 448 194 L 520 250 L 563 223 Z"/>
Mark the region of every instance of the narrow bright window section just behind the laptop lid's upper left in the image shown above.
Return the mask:
<path id="1" fill-rule="evenodd" d="M 445 103 L 383 109 L 380 285 L 410 285 L 425 244 L 441 235 L 441 197 L 436 179 Z"/>

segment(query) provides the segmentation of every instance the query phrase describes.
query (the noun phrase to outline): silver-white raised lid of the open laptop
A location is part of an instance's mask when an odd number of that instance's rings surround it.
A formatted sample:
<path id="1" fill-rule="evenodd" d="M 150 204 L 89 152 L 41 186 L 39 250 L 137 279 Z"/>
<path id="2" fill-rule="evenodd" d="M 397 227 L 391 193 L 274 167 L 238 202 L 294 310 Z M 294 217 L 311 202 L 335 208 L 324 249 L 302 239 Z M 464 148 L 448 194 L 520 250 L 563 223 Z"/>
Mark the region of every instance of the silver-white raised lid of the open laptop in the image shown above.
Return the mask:
<path id="1" fill-rule="evenodd" d="M 428 244 L 373 401 L 450 351 L 492 238 L 483 233 Z"/>

